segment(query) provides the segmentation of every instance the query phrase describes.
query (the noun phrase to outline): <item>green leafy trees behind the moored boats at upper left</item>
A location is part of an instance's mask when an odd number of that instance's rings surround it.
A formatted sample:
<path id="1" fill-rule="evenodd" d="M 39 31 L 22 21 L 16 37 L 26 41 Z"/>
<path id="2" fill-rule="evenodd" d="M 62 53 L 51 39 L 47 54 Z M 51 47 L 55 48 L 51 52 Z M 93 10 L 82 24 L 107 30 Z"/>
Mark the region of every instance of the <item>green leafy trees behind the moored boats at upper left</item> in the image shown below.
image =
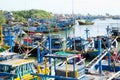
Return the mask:
<path id="1" fill-rule="evenodd" d="M 6 22 L 5 13 L 7 11 L 0 10 L 0 25 Z M 44 10 L 31 9 L 21 11 L 11 11 L 15 22 L 26 22 L 28 18 L 47 19 L 51 18 L 50 12 Z"/>

